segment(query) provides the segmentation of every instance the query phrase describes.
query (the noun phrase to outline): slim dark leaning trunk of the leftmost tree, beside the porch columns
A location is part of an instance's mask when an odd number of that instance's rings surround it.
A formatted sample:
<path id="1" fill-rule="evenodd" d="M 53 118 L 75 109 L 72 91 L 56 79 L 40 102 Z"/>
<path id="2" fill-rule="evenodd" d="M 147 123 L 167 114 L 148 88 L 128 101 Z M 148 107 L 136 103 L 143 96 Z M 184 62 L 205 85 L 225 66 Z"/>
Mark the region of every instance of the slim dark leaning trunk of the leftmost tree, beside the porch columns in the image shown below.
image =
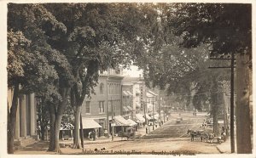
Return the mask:
<path id="1" fill-rule="evenodd" d="M 14 154 L 15 147 L 15 126 L 16 126 L 16 113 L 18 106 L 18 97 L 19 97 L 19 84 L 15 85 L 14 96 L 12 99 L 12 106 L 9 111 L 8 118 L 8 153 Z"/>

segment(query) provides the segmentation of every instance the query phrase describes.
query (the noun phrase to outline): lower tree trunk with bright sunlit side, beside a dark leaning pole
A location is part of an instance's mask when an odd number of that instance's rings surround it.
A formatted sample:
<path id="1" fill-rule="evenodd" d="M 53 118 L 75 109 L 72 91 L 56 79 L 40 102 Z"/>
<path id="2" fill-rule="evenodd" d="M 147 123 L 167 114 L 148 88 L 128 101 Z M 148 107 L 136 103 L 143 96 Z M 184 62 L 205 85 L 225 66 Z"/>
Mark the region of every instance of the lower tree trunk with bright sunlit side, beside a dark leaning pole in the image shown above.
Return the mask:
<path id="1" fill-rule="evenodd" d="M 80 114 L 82 111 L 82 106 L 76 106 L 75 112 L 75 125 L 74 125 L 74 137 L 73 137 L 73 149 L 81 149 L 79 141 L 79 126 L 80 126 Z"/>

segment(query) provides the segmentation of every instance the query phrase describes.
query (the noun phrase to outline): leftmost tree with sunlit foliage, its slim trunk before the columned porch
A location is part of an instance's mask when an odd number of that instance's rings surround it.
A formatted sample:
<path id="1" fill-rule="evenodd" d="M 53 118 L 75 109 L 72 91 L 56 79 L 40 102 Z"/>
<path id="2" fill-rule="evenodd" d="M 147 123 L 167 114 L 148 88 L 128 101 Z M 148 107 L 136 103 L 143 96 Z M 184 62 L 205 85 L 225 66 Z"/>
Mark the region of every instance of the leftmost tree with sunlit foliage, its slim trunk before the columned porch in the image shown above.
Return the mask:
<path id="1" fill-rule="evenodd" d="M 15 94 L 9 115 L 8 149 L 9 153 L 13 153 L 19 93 L 54 95 L 61 104 L 65 101 L 61 89 L 67 85 L 63 81 L 68 81 L 70 77 L 65 71 L 68 70 L 67 59 L 50 47 L 44 34 L 45 25 L 50 24 L 48 29 L 65 32 L 64 25 L 58 23 L 40 4 L 9 3 L 8 7 L 8 82 Z M 65 73 L 61 74 L 61 71 Z"/>

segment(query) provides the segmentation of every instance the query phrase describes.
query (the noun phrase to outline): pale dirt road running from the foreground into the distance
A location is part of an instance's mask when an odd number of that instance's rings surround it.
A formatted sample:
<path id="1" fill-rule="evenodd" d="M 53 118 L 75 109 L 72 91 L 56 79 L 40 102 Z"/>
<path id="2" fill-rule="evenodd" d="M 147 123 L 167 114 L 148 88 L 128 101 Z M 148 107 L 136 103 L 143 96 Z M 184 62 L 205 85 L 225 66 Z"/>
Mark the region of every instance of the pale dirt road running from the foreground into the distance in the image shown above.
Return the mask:
<path id="1" fill-rule="evenodd" d="M 205 114 L 193 116 L 183 113 L 183 121 L 176 122 L 178 114 L 172 114 L 162 127 L 135 140 L 96 141 L 86 144 L 84 152 L 69 147 L 61 148 L 62 154 L 150 154 L 150 155 L 176 155 L 176 154 L 219 154 L 216 144 L 201 142 L 201 138 L 190 141 L 187 134 L 188 129 L 201 129 L 201 122 L 206 118 Z M 47 147 L 46 147 L 47 148 Z M 17 154 L 35 153 L 35 151 L 24 150 Z M 42 151 L 50 154 L 49 152 Z M 39 153 L 40 154 L 40 153 Z"/>

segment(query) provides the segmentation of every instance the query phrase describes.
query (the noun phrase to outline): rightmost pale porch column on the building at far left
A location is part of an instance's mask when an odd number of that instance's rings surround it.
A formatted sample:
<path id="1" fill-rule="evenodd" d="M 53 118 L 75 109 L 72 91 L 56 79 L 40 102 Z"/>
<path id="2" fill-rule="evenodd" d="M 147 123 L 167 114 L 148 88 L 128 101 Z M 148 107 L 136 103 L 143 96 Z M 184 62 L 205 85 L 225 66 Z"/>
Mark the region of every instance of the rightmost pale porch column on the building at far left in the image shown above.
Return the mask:
<path id="1" fill-rule="evenodd" d="M 31 119 L 30 119 L 30 125 L 31 125 L 31 135 L 36 135 L 36 107 L 35 107 L 35 94 L 31 93 L 29 97 L 29 104 L 30 104 L 30 113 L 31 113 Z"/>

